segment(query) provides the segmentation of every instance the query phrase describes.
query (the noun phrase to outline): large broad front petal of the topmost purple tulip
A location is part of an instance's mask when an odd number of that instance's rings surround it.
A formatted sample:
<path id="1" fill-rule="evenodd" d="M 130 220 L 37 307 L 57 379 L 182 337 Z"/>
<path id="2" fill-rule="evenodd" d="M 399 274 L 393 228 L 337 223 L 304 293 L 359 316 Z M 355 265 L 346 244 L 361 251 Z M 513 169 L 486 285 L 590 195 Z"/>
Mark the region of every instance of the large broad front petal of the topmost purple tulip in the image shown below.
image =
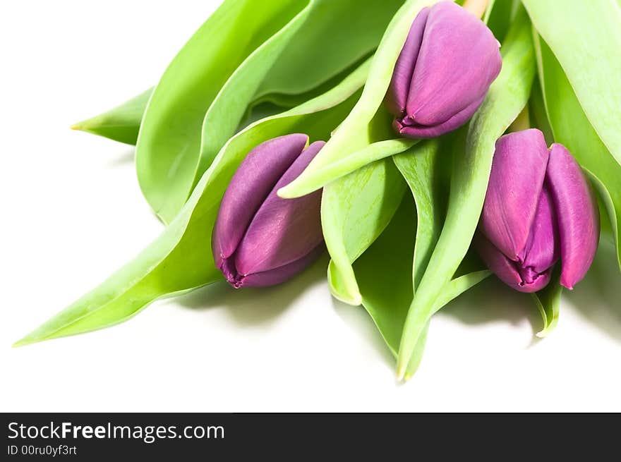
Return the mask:
<path id="1" fill-rule="evenodd" d="M 484 97 L 498 77 L 502 58 L 487 26 L 452 1 L 430 8 L 411 78 L 407 115 L 435 126 Z"/>

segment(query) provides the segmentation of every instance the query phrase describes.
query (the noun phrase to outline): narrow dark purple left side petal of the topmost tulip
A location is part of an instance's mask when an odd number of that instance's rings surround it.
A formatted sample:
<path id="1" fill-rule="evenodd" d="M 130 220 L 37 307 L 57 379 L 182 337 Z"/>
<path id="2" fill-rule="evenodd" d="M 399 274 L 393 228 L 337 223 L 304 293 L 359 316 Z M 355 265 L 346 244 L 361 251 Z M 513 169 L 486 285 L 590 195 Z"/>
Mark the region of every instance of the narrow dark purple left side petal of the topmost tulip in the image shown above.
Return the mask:
<path id="1" fill-rule="evenodd" d="M 387 108 L 391 114 L 395 116 L 403 116 L 407 102 L 407 95 L 410 89 L 410 82 L 414 74 L 414 66 L 418 58 L 418 51 L 421 49 L 423 41 L 423 32 L 425 32 L 425 23 L 429 15 L 429 7 L 423 8 L 408 33 L 405 44 L 397 63 L 394 65 L 392 72 L 392 80 L 387 93 Z"/>

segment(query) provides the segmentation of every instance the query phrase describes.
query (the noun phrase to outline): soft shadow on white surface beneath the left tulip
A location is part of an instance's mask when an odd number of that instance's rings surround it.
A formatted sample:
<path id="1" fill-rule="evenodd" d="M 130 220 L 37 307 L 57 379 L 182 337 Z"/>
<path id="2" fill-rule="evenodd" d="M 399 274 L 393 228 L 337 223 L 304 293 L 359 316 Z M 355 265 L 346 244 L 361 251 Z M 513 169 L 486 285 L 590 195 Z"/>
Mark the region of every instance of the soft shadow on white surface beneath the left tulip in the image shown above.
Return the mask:
<path id="1" fill-rule="evenodd" d="M 282 315 L 303 293 L 325 281 L 327 255 L 291 281 L 274 287 L 236 290 L 224 281 L 174 298 L 174 303 L 193 310 L 227 308 L 241 327 L 263 324 Z"/>

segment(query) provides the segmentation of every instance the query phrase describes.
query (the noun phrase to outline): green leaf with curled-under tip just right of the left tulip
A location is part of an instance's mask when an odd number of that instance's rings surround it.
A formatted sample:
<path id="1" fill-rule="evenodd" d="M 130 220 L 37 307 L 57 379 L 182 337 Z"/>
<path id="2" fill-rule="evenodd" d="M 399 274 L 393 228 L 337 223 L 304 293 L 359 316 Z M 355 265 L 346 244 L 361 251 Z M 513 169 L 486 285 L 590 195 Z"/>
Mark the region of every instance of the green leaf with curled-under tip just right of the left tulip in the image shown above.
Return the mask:
<path id="1" fill-rule="evenodd" d="M 322 193 L 321 224 L 332 260 L 332 295 L 350 305 L 362 296 L 351 263 L 382 233 L 399 207 L 405 183 L 390 159 L 364 166 L 327 185 Z"/>

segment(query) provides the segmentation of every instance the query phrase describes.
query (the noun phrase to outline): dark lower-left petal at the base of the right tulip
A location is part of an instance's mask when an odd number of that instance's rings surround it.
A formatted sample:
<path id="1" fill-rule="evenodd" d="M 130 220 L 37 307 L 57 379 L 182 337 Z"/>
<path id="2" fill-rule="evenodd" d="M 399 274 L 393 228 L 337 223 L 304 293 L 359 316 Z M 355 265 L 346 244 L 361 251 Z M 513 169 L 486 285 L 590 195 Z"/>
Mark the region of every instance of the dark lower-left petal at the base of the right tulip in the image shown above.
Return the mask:
<path id="1" fill-rule="evenodd" d="M 505 257 L 498 248 L 495 248 L 493 243 L 490 243 L 483 236 L 483 233 L 476 233 L 473 242 L 478 255 L 481 255 L 481 260 L 485 262 L 487 267 L 498 276 L 498 279 L 516 291 L 526 293 L 540 291 L 550 282 L 551 269 L 541 274 L 531 275 L 530 281 L 524 281 L 518 271 L 518 264 Z"/>

